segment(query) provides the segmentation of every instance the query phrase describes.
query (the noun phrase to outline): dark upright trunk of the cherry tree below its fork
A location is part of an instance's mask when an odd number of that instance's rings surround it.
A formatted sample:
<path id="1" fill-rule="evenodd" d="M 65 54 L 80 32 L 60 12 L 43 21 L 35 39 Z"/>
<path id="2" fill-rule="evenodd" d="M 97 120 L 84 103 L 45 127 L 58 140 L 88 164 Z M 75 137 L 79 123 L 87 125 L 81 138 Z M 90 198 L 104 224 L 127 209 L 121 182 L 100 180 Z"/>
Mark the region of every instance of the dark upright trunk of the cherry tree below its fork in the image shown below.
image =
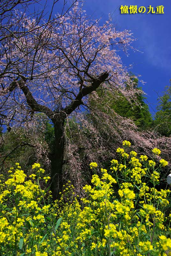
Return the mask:
<path id="1" fill-rule="evenodd" d="M 53 201 L 59 198 L 59 192 L 62 191 L 62 167 L 64 153 L 64 136 L 63 136 L 64 120 L 60 120 L 54 124 L 55 143 L 54 150 L 50 156 L 51 161 L 51 191 Z"/>

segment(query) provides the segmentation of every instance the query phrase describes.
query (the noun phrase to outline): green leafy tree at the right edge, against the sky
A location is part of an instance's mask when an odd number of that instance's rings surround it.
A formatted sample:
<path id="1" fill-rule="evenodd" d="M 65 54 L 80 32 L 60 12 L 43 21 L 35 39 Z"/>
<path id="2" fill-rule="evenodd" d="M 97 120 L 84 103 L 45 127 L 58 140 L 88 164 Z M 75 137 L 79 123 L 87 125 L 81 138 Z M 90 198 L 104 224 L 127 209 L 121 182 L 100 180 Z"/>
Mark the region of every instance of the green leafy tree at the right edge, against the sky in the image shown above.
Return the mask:
<path id="1" fill-rule="evenodd" d="M 163 96 L 158 98 L 159 105 L 155 115 L 154 126 L 164 136 L 171 135 L 171 82 L 165 87 Z"/>

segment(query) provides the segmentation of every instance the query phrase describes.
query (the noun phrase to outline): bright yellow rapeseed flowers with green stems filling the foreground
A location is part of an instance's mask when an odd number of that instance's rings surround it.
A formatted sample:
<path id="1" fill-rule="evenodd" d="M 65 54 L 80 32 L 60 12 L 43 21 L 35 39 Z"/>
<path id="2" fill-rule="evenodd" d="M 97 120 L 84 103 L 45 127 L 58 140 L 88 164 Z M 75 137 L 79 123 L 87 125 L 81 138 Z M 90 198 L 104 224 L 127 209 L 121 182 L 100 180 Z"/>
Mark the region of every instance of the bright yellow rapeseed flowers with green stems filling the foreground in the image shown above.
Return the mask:
<path id="1" fill-rule="evenodd" d="M 123 141 L 109 170 L 98 169 L 85 196 L 71 182 L 60 200 L 40 184 L 48 184 L 40 164 L 26 176 L 19 163 L 0 182 L 0 255 L 4 256 L 166 256 L 171 255 L 169 189 L 157 189 L 168 163 L 130 151 Z M 154 161 L 155 160 L 155 161 Z"/>

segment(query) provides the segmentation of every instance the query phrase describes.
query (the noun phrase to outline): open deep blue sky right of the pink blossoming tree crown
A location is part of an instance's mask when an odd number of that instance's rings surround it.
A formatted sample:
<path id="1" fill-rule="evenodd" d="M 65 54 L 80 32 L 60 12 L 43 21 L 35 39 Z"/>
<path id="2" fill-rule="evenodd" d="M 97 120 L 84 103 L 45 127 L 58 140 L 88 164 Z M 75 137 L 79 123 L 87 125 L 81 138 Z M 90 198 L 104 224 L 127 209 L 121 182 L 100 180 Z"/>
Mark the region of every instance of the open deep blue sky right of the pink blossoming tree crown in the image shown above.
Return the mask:
<path id="1" fill-rule="evenodd" d="M 143 86 L 150 103 L 150 111 L 155 114 L 158 94 L 161 95 L 164 87 L 169 85 L 171 79 L 171 1 L 169 0 L 144 0 L 141 3 L 135 0 L 87 0 L 83 9 L 88 15 L 102 18 L 102 22 L 108 20 L 108 14 L 113 13 L 113 23 L 117 30 L 129 29 L 137 40 L 132 44 L 140 52 L 129 52 L 129 57 L 123 56 L 123 63 L 133 64 L 131 70 L 141 75 L 146 82 Z M 50 4 L 51 1 L 48 1 Z M 62 4 L 63 0 L 59 0 Z M 68 1 L 68 5 L 69 5 Z M 163 5 L 164 14 L 121 14 L 121 5 L 145 6 L 148 12 L 149 5 L 154 7 Z M 59 5 L 58 5 L 59 7 Z M 59 10 L 57 10 L 59 11 Z"/>

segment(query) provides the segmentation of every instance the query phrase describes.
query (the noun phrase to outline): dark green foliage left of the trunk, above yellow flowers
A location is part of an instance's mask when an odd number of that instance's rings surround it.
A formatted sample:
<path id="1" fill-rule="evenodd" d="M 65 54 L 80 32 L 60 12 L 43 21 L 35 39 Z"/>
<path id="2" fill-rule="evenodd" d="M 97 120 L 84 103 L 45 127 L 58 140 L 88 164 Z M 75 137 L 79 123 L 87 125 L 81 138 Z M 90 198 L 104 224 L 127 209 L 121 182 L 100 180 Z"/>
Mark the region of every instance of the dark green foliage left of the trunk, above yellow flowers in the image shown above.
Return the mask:
<path id="1" fill-rule="evenodd" d="M 24 127 L 11 129 L 10 132 L 2 133 L 2 143 L 0 145 L 0 168 L 5 174 L 16 159 L 25 170 L 30 170 L 30 166 L 38 159 L 41 165 L 45 165 L 44 156 L 46 149 L 51 149 L 54 142 L 54 128 L 43 114 L 36 114 L 37 122 L 35 126 L 26 130 Z M 37 148 L 39 149 L 39 152 Z M 41 149 L 44 152 L 41 155 Z M 45 165 L 46 166 L 46 165 Z"/>

